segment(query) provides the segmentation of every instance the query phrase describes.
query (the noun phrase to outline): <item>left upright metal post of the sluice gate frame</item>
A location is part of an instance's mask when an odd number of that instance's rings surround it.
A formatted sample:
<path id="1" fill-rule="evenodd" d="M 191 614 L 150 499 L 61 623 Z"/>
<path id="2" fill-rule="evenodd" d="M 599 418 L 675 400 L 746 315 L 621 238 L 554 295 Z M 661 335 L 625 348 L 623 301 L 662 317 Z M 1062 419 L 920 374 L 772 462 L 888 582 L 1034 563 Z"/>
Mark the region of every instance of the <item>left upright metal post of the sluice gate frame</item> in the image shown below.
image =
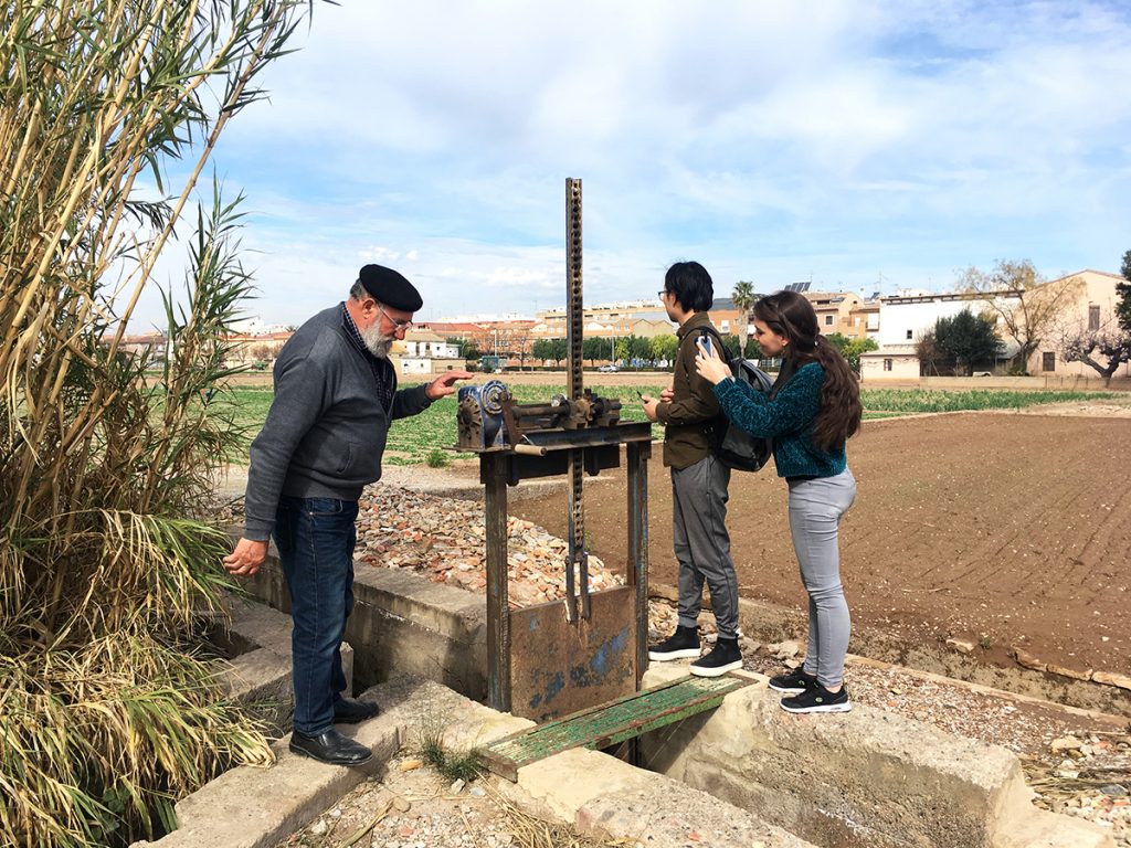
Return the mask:
<path id="1" fill-rule="evenodd" d="M 510 712 L 510 604 L 507 590 L 507 457 L 483 453 L 487 543 L 487 706 Z"/>

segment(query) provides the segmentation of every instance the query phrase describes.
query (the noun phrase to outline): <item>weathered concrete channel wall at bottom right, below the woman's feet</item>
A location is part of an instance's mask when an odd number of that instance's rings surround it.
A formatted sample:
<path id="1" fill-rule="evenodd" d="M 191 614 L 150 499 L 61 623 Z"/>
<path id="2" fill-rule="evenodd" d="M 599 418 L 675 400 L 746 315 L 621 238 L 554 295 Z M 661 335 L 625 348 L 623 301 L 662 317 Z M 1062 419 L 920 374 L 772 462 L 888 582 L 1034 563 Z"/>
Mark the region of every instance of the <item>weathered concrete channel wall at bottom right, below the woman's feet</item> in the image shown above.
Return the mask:
<path id="1" fill-rule="evenodd" d="M 653 668 L 644 684 L 682 673 Z M 792 716 L 779 699 L 761 678 L 647 734 L 646 768 L 824 848 L 1111 845 L 1094 824 L 1033 807 L 1005 749 L 867 707 Z"/>

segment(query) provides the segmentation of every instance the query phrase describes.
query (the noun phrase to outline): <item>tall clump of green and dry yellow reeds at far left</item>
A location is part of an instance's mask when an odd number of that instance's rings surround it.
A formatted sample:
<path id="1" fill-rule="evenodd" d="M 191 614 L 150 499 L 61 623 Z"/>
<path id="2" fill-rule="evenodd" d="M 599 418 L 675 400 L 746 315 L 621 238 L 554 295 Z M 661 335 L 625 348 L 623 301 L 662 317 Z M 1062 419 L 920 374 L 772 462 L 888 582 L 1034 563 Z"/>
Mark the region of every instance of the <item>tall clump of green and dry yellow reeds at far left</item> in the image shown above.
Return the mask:
<path id="1" fill-rule="evenodd" d="M 0 7 L 0 843 L 124 845 L 217 770 L 270 760 L 195 637 L 226 581 L 202 509 L 239 439 L 209 403 L 249 287 L 238 204 L 199 206 L 162 370 L 126 339 L 221 133 L 309 11 Z"/>

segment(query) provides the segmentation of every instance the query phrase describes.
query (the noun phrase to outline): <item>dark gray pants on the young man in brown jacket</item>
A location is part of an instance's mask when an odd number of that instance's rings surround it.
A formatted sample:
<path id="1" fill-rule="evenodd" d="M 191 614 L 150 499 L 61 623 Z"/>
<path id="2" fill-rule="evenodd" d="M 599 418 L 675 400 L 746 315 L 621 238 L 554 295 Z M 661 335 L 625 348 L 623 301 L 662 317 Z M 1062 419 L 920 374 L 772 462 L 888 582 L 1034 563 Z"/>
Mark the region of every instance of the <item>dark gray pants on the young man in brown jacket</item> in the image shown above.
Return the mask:
<path id="1" fill-rule="evenodd" d="M 714 453 L 687 468 L 672 469 L 672 536 L 680 563 L 680 626 L 694 628 L 703 582 L 722 639 L 739 638 L 739 579 L 726 531 L 731 469 Z"/>

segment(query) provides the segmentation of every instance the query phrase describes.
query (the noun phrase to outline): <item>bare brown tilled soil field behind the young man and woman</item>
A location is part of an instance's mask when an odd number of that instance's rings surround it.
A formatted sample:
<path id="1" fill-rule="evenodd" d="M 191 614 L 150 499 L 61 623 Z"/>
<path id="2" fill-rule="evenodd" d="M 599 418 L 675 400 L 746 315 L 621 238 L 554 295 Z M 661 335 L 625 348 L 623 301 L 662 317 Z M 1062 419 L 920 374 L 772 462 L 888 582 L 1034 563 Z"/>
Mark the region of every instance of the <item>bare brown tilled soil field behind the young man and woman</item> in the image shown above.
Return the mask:
<path id="1" fill-rule="evenodd" d="M 1131 668 L 1131 419 L 1087 409 L 869 422 L 849 443 L 860 488 L 841 527 L 854 622 L 938 646 L 977 644 L 1011 664 L 1020 647 L 1077 669 Z M 1107 412 L 1107 410 L 1105 410 Z M 650 579 L 676 582 L 662 445 L 649 464 Z M 472 470 L 472 469 L 467 469 Z M 623 568 L 623 469 L 587 481 L 594 553 Z M 512 514 L 567 534 L 563 492 Z M 727 525 L 744 597 L 802 608 L 804 591 L 772 469 L 734 473 Z"/>

